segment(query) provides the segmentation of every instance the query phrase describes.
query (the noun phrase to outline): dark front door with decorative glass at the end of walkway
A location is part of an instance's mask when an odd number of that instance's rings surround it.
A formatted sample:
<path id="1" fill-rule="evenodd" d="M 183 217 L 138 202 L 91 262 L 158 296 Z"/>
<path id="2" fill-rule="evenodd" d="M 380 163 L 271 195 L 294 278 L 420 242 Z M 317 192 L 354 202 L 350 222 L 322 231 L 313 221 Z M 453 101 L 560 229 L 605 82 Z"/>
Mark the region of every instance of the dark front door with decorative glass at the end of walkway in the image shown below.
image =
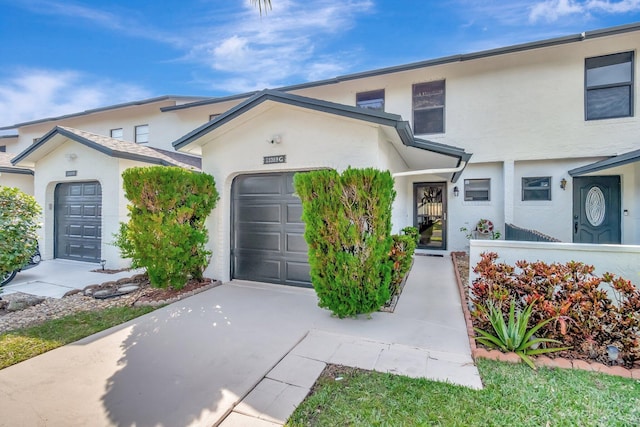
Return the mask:
<path id="1" fill-rule="evenodd" d="M 447 248 L 445 194 L 446 184 L 444 182 L 413 184 L 413 226 L 420 233 L 418 248 Z"/>

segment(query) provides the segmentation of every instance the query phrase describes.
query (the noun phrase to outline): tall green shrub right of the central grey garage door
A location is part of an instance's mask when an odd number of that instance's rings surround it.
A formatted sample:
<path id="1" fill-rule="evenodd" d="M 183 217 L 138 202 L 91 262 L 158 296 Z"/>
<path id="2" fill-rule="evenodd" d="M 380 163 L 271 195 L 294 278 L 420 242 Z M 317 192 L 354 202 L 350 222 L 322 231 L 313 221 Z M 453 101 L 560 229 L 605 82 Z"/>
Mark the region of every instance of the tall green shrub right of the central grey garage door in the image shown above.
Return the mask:
<path id="1" fill-rule="evenodd" d="M 391 174 L 372 168 L 298 173 L 311 281 L 339 317 L 378 310 L 391 280 Z"/>

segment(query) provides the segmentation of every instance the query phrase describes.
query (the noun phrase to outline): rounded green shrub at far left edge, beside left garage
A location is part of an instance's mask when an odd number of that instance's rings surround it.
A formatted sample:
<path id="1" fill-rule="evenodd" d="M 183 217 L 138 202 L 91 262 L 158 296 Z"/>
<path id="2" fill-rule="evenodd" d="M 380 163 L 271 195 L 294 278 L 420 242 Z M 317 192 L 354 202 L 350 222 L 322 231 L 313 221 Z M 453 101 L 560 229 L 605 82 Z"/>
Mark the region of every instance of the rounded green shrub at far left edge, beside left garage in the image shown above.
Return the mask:
<path id="1" fill-rule="evenodd" d="M 0 275 L 29 263 L 38 245 L 39 215 L 33 196 L 0 186 Z"/>

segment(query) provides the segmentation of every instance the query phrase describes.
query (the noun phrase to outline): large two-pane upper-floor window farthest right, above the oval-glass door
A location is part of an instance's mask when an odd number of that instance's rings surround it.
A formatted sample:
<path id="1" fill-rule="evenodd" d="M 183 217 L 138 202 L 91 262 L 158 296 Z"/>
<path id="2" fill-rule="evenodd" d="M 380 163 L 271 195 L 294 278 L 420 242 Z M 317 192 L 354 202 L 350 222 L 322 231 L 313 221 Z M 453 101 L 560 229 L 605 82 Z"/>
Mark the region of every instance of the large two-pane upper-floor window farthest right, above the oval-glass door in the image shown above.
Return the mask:
<path id="1" fill-rule="evenodd" d="M 633 52 L 585 59 L 585 119 L 633 116 Z"/>

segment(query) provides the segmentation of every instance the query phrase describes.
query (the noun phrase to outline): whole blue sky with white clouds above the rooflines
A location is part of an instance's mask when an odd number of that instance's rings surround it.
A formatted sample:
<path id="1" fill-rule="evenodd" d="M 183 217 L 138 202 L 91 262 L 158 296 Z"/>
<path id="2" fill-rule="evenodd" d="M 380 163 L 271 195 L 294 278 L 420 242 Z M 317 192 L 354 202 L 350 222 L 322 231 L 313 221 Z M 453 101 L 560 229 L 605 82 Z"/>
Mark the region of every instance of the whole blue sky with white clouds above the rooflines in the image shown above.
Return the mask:
<path id="1" fill-rule="evenodd" d="M 640 21 L 640 0 L 0 0 L 0 126 Z"/>

